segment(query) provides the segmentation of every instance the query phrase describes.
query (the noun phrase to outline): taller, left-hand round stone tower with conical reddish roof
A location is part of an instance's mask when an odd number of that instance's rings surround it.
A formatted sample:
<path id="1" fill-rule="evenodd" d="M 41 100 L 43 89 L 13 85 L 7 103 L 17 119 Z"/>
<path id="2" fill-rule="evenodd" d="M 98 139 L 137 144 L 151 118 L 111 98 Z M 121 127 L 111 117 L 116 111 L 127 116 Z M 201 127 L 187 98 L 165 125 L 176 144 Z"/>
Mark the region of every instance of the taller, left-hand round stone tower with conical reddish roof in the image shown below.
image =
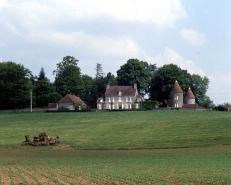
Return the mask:
<path id="1" fill-rule="evenodd" d="M 178 84 L 177 81 L 175 81 L 171 91 L 170 91 L 170 107 L 182 107 L 183 106 L 183 91 Z"/>

